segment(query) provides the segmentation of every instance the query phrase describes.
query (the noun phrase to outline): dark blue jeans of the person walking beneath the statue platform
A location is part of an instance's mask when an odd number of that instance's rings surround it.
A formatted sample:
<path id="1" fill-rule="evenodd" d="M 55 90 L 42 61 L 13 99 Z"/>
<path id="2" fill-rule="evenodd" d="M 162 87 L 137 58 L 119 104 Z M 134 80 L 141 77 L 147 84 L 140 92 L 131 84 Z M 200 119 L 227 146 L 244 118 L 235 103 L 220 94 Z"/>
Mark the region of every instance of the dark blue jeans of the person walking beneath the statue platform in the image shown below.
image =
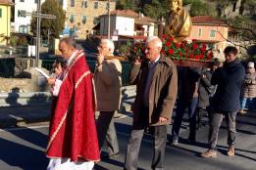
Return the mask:
<path id="1" fill-rule="evenodd" d="M 188 107 L 188 121 L 189 121 L 189 139 L 195 141 L 196 133 L 196 106 L 198 104 L 198 98 L 193 98 L 187 104 L 178 100 L 177 103 L 177 114 L 173 125 L 172 135 L 173 140 L 179 139 L 179 129 L 184 115 L 185 108 Z"/>

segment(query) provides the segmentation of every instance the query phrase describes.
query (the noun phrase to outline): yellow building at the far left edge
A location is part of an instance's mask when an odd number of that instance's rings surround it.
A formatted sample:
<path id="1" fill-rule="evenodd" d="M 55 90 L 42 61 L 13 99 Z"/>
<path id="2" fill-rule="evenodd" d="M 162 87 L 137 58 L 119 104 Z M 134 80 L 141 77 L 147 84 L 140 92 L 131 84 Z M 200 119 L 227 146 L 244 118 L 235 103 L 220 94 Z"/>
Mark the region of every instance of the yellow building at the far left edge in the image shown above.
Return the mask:
<path id="1" fill-rule="evenodd" d="M 0 0 L 0 45 L 6 45 L 11 30 L 12 0 Z"/>

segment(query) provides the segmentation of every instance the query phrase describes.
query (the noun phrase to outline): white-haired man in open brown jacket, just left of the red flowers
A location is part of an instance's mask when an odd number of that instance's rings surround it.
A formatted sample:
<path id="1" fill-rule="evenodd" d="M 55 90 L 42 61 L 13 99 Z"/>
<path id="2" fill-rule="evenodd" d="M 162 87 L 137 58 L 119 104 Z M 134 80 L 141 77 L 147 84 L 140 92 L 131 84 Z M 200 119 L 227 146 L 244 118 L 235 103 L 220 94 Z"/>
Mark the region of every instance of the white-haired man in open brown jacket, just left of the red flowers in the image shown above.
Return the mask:
<path id="1" fill-rule="evenodd" d="M 138 151 L 144 130 L 153 130 L 154 156 L 152 169 L 164 169 L 163 161 L 167 138 L 167 125 L 172 119 L 178 80 L 177 68 L 171 59 L 160 55 L 162 41 L 149 37 L 145 58 L 133 64 L 130 82 L 137 85 L 136 98 L 132 106 L 133 123 L 128 142 L 125 169 L 136 170 Z"/>

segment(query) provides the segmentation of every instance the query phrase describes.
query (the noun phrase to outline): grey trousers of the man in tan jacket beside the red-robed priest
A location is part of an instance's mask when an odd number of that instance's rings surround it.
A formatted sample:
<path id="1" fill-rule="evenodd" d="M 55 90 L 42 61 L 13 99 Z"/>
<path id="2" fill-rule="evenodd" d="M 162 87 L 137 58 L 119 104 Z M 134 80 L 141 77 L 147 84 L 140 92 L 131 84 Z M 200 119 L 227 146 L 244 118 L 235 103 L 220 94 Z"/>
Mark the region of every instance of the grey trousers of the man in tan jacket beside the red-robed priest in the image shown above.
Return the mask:
<path id="1" fill-rule="evenodd" d="M 108 144 L 109 155 L 119 153 L 117 132 L 114 125 L 115 111 L 100 111 L 96 126 L 99 149 L 102 149 L 105 140 Z"/>

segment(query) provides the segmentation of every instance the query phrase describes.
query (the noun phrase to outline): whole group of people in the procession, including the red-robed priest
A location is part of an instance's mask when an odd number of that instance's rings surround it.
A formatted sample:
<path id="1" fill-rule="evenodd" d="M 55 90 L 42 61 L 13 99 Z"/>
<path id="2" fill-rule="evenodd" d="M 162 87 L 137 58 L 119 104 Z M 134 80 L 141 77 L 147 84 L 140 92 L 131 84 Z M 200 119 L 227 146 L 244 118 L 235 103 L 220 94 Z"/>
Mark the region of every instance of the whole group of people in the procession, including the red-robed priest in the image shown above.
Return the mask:
<path id="1" fill-rule="evenodd" d="M 56 76 L 48 79 L 53 85 L 52 118 L 46 154 L 50 158 L 47 170 L 91 170 L 105 156 L 119 156 L 120 149 L 114 125 L 115 111 L 122 98 L 122 64 L 113 56 L 112 40 L 102 39 L 92 73 L 84 53 L 76 49 L 71 37 L 60 41 L 59 50 L 67 64 L 55 65 Z M 188 108 L 188 142 L 196 142 L 196 129 L 209 124 L 209 149 L 202 157 L 217 156 L 218 133 L 223 120 L 227 123 L 227 154 L 235 153 L 235 117 L 256 98 L 254 63 L 246 71 L 235 47 L 224 51 L 224 63 L 214 60 L 211 68 L 176 66 L 161 55 L 162 41 L 157 36 L 146 40 L 144 59 L 136 59 L 130 70 L 130 84 L 136 85 L 132 105 L 133 122 L 125 159 L 126 170 L 136 170 L 138 152 L 145 131 L 153 136 L 154 155 L 151 168 L 164 169 L 167 142 L 179 145 L 179 129 Z M 167 127 L 176 116 L 172 136 Z M 95 111 L 99 116 L 95 120 Z M 209 123 L 203 121 L 205 113 Z M 104 142 L 108 154 L 100 153 Z"/>

